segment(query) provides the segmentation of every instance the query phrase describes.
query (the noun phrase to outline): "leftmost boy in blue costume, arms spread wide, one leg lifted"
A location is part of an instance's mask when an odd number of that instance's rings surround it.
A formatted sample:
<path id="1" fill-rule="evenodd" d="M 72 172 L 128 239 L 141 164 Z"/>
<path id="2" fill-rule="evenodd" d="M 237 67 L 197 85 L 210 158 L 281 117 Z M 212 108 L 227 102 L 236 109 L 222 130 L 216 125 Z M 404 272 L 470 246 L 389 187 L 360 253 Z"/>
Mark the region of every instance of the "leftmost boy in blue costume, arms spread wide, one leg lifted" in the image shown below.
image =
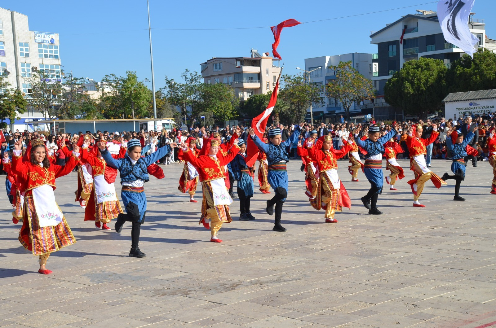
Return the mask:
<path id="1" fill-rule="evenodd" d="M 126 214 L 119 214 L 115 229 L 121 232 L 124 222 L 132 222 L 131 228 L 131 251 L 129 256 L 142 258 L 146 254 L 139 250 L 139 233 L 141 223 L 145 220 L 146 196 L 144 193 L 144 183 L 149 181 L 147 167 L 154 164 L 159 159 L 171 151 L 171 147 L 177 147 L 176 143 L 165 145 L 149 156 L 141 157 L 141 144 L 137 139 L 131 139 L 127 143 L 127 153 L 122 159 L 114 159 L 107 149 L 107 142 L 100 140 L 98 148 L 100 153 L 111 167 L 121 172 L 122 192 L 121 198 L 124 203 Z"/>

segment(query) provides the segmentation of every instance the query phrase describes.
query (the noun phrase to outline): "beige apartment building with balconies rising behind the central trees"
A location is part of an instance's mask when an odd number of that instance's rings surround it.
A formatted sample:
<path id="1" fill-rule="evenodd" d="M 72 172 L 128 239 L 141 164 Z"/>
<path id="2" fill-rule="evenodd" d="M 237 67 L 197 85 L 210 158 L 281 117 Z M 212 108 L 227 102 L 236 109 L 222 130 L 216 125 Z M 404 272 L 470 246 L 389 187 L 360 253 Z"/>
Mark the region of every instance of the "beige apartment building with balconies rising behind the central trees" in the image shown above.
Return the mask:
<path id="1" fill-rule="evenodd" d="M 240 102 L 274 90 L 281 72 L 279 59 L 252 49 L 249 57 L 213 57 L 200 64 L 204 83 L 224 83 L 234 88 Z"/>

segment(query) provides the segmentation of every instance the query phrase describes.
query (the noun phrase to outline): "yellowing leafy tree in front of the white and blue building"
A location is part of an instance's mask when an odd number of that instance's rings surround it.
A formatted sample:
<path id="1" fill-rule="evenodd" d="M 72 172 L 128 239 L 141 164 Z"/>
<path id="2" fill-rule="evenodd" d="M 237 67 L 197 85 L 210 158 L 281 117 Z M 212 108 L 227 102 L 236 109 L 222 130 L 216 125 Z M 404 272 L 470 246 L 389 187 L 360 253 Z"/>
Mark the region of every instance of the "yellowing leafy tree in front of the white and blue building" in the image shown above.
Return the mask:
<path id="1" fill-rule="evenodd" d="M 343 104 L 348 117 L 353 103 L 373 97 L 372 81 L 360 74 L 351 61 L 340 61 L 337 65 L 329 66 L 329 69 L 334 70 L 336 79 L 327 84 L 326 93 L 329 98 Z"/>

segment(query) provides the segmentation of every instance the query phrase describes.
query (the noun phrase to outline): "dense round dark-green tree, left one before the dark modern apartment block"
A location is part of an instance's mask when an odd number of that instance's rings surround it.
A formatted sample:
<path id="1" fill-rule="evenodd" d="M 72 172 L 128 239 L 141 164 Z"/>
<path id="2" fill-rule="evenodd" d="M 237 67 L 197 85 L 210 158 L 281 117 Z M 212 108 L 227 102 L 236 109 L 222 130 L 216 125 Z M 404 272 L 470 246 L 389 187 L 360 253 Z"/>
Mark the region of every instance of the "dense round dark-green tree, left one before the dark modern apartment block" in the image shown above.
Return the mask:
<path id="1" fill-rule="evenodd" d="M 403 64 L 384 86 L 384 100 L 410 115 L 425 117 L 444 99 L 446 66 L 442 60 L 419 58 Z"/>

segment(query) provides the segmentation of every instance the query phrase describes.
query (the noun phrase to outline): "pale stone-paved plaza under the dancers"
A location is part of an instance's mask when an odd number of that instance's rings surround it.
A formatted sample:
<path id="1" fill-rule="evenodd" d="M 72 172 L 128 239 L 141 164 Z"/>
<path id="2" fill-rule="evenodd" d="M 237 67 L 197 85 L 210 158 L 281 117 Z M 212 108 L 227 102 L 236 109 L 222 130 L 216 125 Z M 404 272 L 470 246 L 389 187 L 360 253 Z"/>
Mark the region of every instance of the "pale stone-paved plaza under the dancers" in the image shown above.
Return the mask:
<path id="1" fill-rule="evenodd" d="M 273 194 L 255 188 L 256 220 L 239 221 L 235 199 L 222 244 L 198 225 L 201 188 L 199 202 L 187 202 L 177 189 L 183 165 L 163 165 L 166 177 L 145 184 L 143 259 L 127 256 L 129 223 L 118 234 L 83 222 L 73 172 L 55 193 L 77 242 L 52 254 L 50 275 L 37 273 L 38 259 L 18 242 L 20 223 L 2 192 L 0 327 L 496 327 L 492 168 L 469 164 L 467 201 L 453 201 L 454 180 L 440 189 L 428 182 L 427 207 L 413 208 L 413 172 L 398 163 L 406 177 L 379 197 L 384 215 L 370 216 L 360 201 L 370 184 L 362 172 L 352 183 L 348 162 L 338 161 L 353 205 L 332 224 L 310 207 L 301 161 L 292 160 L 288 231 L 271 230 L 264 208 Z M 442 175 L 450 164 L 432 169 Z"/>

